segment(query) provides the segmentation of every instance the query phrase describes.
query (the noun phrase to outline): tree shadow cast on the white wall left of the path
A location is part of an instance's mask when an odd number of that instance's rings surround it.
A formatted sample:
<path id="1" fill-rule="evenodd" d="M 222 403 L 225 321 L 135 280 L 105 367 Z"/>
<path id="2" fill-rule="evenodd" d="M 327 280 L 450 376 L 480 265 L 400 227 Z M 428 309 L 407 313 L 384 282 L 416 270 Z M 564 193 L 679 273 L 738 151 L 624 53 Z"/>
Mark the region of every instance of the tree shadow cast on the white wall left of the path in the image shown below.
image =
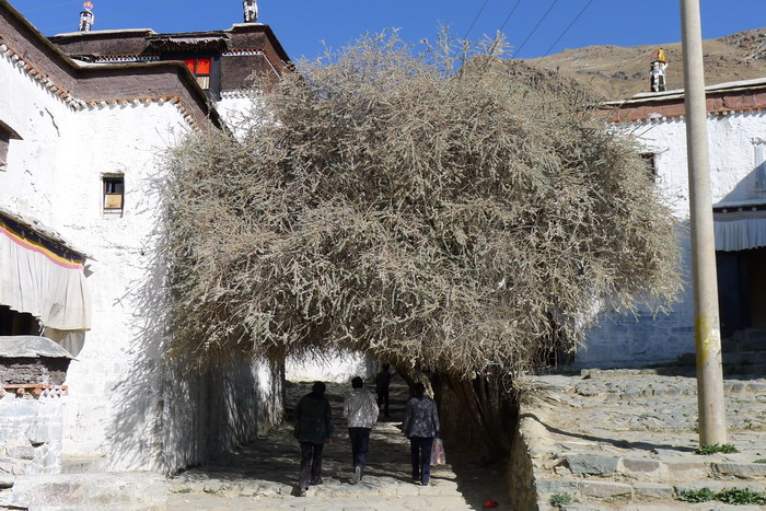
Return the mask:
<path id="1" fill-rule="evenodd" d="M 117 299 L 131 312 L 124 371 L 107 392 L 114 408 L 109 425 L 111 469 L 152 469 L 165 474 L 200 465 L 256 439 L 281 421 L 283 369 L 229 357 L 217 368 L 195 369 L 189 352 L 170 353 L 171 262 L 167 210 L 170 183 L 150 179 L 144 204 L 147 233 L 135 264 L 143 276 Z M 152 223 L 153 222 L 153 223 Z"/>

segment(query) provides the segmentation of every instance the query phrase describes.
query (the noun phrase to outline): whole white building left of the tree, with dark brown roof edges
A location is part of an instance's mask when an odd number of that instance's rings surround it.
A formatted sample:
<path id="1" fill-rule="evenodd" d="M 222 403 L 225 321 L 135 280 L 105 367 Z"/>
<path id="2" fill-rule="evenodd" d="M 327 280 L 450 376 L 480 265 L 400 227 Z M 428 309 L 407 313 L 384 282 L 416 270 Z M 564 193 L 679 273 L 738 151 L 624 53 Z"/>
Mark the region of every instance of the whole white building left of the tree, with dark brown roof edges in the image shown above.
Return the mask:
<path id="1" fill-rule="evenodd" d="M 281 367 L 200 375 L 164 360 L 154 186 L 169 147 L 221 127 L 251 73 L 287 62 L 259 23 L 47 39 L 0 0 L 0 336 L 74 357 L 63 384 L 20 385 L 0 352 L 0 473 L 172 472 L 281 419 Z"/>

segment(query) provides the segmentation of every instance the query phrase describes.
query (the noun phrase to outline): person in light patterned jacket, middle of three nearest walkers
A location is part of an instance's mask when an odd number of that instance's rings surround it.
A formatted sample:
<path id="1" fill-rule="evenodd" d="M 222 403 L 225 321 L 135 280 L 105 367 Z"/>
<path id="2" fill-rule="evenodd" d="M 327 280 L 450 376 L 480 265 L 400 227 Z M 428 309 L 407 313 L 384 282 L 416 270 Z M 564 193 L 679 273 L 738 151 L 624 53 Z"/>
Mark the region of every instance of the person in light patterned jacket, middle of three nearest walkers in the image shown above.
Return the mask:
<path id="1" fill-rule="evenodd" d="M 348 435 L 351 438 L 351 463 L 356 485 L 362 478 L 367 465 L 370 432 L 378 421 L 378 403 L 364 388 L 364 381 L 357 376 L 351 380 L 351 393 L 344 400 L 344 418 L 348 420 Z"/>

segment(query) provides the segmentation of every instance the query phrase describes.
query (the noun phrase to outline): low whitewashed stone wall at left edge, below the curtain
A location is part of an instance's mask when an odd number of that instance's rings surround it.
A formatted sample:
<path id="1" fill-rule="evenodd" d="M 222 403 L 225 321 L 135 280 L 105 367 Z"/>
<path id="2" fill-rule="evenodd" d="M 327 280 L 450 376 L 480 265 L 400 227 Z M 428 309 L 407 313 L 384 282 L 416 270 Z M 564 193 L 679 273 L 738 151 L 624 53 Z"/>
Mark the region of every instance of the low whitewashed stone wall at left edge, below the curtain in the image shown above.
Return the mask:
<path id="1" fill-rule="evenodd" d="M 0 390 L 0 478 L 61 472 L 63 388 Z"/>

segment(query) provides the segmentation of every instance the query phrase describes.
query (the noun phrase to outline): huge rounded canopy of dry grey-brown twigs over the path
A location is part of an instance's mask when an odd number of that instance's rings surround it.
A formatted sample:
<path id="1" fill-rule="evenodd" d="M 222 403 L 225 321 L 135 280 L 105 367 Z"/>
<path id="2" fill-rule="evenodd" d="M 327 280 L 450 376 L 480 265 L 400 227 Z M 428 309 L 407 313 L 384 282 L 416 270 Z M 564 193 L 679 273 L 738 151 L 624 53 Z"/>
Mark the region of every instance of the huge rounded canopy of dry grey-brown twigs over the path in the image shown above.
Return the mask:
<path id="1" fill-rule="evenodd" d="M 457 378 L 663 306 L 676 232 L 632 142 L 497 42 L 365 36 L 170 155 L 173 347 L 350 349 Z"/>

